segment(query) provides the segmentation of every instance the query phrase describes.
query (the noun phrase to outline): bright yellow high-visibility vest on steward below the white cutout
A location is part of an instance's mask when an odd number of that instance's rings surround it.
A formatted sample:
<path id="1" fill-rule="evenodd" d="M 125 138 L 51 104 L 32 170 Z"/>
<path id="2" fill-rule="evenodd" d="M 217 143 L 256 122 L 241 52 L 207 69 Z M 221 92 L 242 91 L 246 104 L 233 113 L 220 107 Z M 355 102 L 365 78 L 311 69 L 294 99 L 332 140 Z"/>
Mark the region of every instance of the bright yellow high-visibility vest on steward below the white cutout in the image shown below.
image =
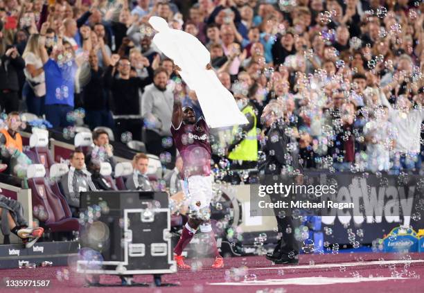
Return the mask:
<path id="1" fill-rule="evenodd" d="M 242 109 L 242 114 L 249 113 L 254 118 L 254 127 L 247 132 L 245 139 L 229 153 L 229 159 L 240 161 L 258 161 L 258 136 L 256 134 L 256 114 L 253 107 L 248 105 Z M 233 127 L 233 136 L 238 132 L 238 125 Z"/>

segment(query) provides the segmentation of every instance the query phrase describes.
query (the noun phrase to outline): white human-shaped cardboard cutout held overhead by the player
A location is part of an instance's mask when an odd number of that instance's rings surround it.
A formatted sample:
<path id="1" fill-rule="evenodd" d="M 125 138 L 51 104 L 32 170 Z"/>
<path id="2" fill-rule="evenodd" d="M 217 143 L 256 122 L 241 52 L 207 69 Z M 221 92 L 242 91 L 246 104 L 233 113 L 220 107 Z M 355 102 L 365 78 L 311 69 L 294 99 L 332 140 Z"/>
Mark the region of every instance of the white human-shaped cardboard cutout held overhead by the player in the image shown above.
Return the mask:
<path id="1" fill-rule="evenodd" d="M 222 85 L 215 71 L 206 70 L 209 51 L 193 35 L 169 28 L 165 19 L 150 17 L 150 25 L 159 33 L 153 43 L 182 69 L 180 76 L 195 91 L 206 123 L 211 128 L 248 123 L 233 95 Z"/>

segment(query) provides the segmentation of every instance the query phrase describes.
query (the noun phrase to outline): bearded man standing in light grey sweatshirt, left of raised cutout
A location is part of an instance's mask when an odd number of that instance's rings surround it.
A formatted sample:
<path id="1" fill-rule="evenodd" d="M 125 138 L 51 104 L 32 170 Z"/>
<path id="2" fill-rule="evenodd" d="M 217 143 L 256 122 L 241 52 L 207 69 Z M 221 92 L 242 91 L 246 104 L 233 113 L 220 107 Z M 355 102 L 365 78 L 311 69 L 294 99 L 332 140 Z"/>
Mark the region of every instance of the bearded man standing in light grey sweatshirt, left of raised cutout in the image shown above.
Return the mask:
<path id="1" fill-rule="evenodd" d="M 143 97 L 142 116 L 146 127 L 145 146 L 148 152 L 159 156 L 166 151 L 163 139 L 170 137 L 170 123 L 173 112 L 173 91 L 167 89 L 168 73 L 164 68 L 154 71 L 153 85 L 146 87 Z M 175 155 L 175 147 L 168 150 Z M 175 159 L 175 158 L 174 158 Z"/>

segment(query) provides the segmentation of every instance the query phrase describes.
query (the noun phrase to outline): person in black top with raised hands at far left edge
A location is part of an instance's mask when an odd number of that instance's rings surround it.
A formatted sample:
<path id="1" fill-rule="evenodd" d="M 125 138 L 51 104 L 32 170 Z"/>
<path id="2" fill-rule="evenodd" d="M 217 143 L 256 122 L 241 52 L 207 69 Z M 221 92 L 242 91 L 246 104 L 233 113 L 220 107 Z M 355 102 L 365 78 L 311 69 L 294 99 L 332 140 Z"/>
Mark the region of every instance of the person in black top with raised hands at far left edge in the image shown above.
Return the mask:
<path id="1" fill-rule="evenodd" d="M 15 46 L 9 47 L 1 56 L 0 64 L 0 107 L 6 113 L 19 108 L 19 71 L 25 67 L 24 59 L 19 56 Z"/>

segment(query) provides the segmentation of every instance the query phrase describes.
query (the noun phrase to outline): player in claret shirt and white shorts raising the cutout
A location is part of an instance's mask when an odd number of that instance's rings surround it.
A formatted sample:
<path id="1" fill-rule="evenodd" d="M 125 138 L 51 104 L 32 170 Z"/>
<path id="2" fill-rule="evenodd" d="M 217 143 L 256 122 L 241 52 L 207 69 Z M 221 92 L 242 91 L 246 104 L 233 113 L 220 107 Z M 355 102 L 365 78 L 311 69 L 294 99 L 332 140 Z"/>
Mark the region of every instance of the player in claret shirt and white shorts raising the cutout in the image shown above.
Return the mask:
<path id="1" fill-rule="evenodd" d="M 181 70 L 176 66 L 176 70 Z M 184 226 L 182 235 L 174 249 L 175 260 L 180 269 L 190 269 L 184 263 L 182 251 L 190 243 L 197 229 L 209 234 L 215 254 L 212 268 L 224 267 L 224 260 L 216 247 L 215 234 L 211 227 L 211 145 L 209 143 L 209 127 L 202 117 L 196 120 L 192 107 L 182 107 L 179 97 L 180 85 L 176 85 L 174 95 L 171 133 L 175 147 L 183 159 L 184 193 L 190 202 L 190 215 Z"/>

